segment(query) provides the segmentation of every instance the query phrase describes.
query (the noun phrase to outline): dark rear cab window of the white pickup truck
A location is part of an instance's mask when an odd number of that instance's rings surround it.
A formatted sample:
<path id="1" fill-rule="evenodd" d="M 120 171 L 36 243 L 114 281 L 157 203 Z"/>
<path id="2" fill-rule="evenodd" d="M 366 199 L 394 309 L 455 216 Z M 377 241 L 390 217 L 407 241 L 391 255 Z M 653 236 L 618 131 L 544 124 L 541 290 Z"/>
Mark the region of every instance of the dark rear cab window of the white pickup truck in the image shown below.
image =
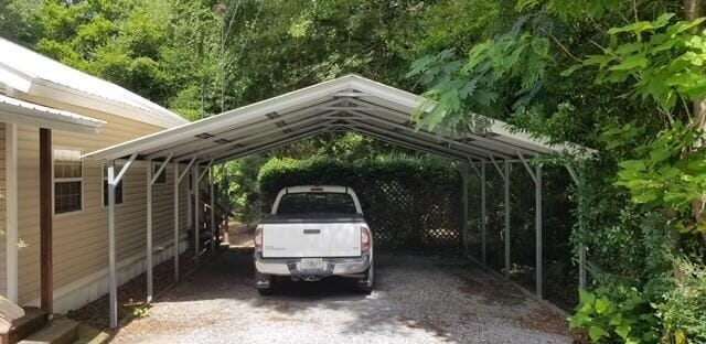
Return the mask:
<path id="1" fill-rule="evenodd" d="M 279 200 L 277 214 L 355 214 L 353 197 L 346 193 L 290 193 Z"/>

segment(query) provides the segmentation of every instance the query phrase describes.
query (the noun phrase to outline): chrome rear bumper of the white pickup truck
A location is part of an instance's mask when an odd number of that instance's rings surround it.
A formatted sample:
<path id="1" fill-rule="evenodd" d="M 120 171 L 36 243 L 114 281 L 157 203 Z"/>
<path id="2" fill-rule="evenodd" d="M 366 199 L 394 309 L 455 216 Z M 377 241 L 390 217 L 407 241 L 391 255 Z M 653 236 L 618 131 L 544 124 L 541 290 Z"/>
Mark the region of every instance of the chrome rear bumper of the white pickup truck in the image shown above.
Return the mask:
<path id="1" fill-rule="evenodd" d="M 263 258 L 255 254 L 255 269 L 265 275 L 275 276 L 346 276 L 361 275 L 371 266 L 372 255 L 363 254 L 351 258 L 322 258 L 322 270 L 300 270 L 300 258 Z"/>

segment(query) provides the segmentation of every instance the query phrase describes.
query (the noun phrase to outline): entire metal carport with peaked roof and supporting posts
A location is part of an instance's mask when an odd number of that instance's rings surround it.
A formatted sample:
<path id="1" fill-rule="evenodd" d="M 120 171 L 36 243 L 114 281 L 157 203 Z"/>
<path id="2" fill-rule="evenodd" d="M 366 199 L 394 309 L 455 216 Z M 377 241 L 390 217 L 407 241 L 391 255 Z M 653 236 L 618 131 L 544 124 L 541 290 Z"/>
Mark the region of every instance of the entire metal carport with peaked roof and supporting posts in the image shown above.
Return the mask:
<path id="1" fill-rule="evenodd" d="M 117 282 L 115 252 L 115 186 L 130 165 L 137 161 L 159 162 L 164 171 L 168 163 L 185 163 L 179 173 L 174 169 L 174 240 L 179 240 L 179 182 L 192 170 L 194 182 L 203 179 L 214 165 L 248 154 L 265 152 L 278 147 L 303 140 L 323 132 L 355 131 L 372 138 L 447 159 L 460 161 L 463 184 L 468 185 L 469 166 L 482 179 L 482 217 L 485 218 L 485 169 L 492 165 L 504 180 L 504 201 L 510 203 L 510 163 L 522 163 L 535 183 L 536 202 L 536 292 L 542 295 L 542 166 L 532 168 L 528 160 L 543 154 L 569 153 L 585 157 L 591 150 L 566 144 L 550 144 L 548 140 L 533 138 L 522 132 L 512 132 L 506 123 L 483 118 L 486 129 L 480 132 L 437 135 L 416 130 L 410 121 L 415 111 L 430 110 L 432 101 L 357 75 L 347 75 L 310 87 L 287 93 L 253 105 L 244 106 L 217 116 L 163 130 L 121 144 L 109 147 L 83 158 L 108 161 L 109 195 L 109 290 L 111 326 L 117 326 Z M 482 118 L 479 116 L 479 118 Z M 127 159 L 120 171 L 115 169 L 115 160 Z M 567 165 L 574 181 L 579 183 L 574 169 Z M 151 247 L 151 185 L 157 175 L 148 170 L 147 202 L 147 250 L 148 250 L 148 302 L 151 299 L 152 264 Z M 195 184 L 196 184 L 195 183 Z M 194 187 L 196 200 L 199 189 Z M 213 193 L 212 193 L 213 194 Z M 464 222 L 462 233 L 468 232 L 468 187 L 463 193 Z M 510 270 L 510 212 L 504 214 L 505 273 Z M 195 223 L 199 219 L 195 218 Z M 483 260 L 485 257 L 485 224 L 482 223 Z M 213 228 L 213 226 L 212 226 Z M 196 227 L 195 238 L 199 238 Z M 464 243 L 467 240 L 464 239 Z M 197 245 L 197 244 L 196 244 Z M 174 257 L 178 273 L 179 256 Z M 585 284 L 586 259 L 581 249 L 579 257 L 580 284 Z M 178 278 L 178 276 L 176 276 Z"/>

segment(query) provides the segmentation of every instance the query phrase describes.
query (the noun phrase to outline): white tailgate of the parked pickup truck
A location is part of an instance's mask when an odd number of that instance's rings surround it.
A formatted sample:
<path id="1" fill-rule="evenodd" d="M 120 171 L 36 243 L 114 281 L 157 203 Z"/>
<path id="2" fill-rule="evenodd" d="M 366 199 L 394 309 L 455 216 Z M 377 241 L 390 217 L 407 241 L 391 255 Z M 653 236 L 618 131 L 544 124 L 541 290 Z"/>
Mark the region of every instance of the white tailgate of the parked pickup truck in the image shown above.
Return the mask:
<path id="1" fill-rule="evenodd" d="M 265 223 L 264 258 L 357 257 L 361 225 L 351 222 Z"/>

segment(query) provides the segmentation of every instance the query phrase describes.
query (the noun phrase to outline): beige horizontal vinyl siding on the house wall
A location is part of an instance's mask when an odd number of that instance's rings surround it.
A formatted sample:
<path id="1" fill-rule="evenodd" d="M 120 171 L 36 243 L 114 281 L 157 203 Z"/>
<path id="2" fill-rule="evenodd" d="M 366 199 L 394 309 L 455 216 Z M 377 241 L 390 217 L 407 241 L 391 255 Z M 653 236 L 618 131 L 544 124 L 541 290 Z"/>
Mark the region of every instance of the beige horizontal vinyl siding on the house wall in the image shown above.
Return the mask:
<path id="1" fill-rule="evenodd" d="M 29 99 L 32 100 L 32 99 Z M 42 101 L 40 101 L 42 100 Z M 97 136 L 53 132 L 55 148 L 95 151 L 115 143 L 151 133 L 161 128 L 124 117 L 90 111 L 64 104 L 34 99 L 108 123 Z M 20 251 L 19 299 L 28 303 L 40 297 L 39 228 L 39 129 L 18 128 L 19 151 L 19 227 L 20 238 L 29 246 Z M 116 207 L 118 261 L 146 255 L 146 171 L 147 163 L 136 162 L 124 180 L 124 203 Z M 183 166 L 182 166 L 183 169 Z M 154 245 L 172 245 L 173 168 L 167 169 L 168 183 L 153 189 Z M 83 161 L 83 209 L 54 216 L 54 289 L 67 286 L 108 266 L 108 217 L 103 206 L 103 168 L 100 161 Z M 180 189 L 180 223 L 186 228 L 186 183 Z"/>

